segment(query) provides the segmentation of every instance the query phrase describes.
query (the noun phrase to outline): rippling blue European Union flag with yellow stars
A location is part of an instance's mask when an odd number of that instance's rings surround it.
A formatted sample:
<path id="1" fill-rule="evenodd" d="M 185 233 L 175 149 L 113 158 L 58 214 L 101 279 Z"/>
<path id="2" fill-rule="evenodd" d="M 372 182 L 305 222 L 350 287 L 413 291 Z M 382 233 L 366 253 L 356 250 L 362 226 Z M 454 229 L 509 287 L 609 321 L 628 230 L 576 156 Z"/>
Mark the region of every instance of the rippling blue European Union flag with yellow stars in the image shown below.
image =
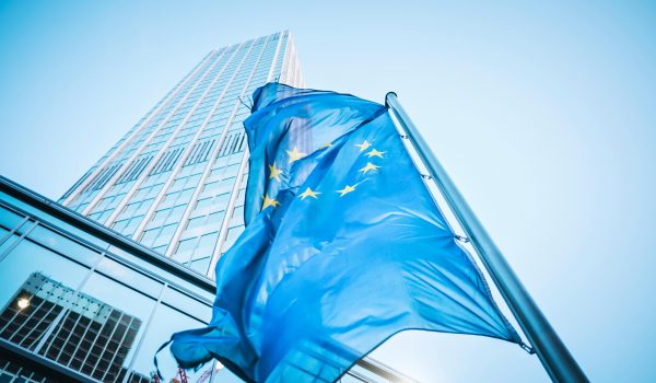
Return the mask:
<path id="1" fill-rule="evenodd" d="M 247 225 L 216 264 L 210 326 L 172 337 L 180 367 L 332 382 L 405 329 L 522 344 L 383 105 L 279 83 L 254 103 Z"/>

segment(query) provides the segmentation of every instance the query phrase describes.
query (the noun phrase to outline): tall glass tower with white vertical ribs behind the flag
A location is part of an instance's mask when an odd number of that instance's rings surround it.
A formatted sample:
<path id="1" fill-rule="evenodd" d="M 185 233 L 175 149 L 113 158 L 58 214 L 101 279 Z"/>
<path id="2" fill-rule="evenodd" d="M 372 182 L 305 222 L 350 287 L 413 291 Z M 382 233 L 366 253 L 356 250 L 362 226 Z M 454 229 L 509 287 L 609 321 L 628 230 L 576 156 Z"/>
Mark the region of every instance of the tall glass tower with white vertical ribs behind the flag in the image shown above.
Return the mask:
<path id="1" fill-rule="evenodd" d="M 249 97 L 303 86 L 289 32 L 213 50 L 60 202 L 208 275 L 243 231 Z"/>

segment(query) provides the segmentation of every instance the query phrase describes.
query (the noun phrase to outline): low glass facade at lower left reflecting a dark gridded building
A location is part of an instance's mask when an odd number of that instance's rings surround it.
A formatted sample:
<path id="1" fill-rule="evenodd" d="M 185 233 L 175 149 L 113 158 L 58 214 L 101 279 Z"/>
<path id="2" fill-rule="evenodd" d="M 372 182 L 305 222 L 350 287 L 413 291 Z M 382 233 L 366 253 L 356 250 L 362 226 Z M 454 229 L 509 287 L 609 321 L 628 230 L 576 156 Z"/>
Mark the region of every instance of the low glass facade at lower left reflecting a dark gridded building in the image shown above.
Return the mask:
<path id="1" fill-rule="evenodd" d="M 173 271 L 167 271 L 153 263 L 161 255 L 149 256 L 150 251 L 133 248 L 116 234 L 101 239 L 85 230 L 89 223 L 73 216 L 62 220 L 16 196 L 22 197 L 3 185 L 0 344 L 56 362 L 78 380 L 150 382 L 153 356 L 166 338 L 209 322 L 209 279 L 171 262 Z M 0 358 L 2 363 L 7 371 L 16 365 L 32 371 Z M 167 379 L 178 373 L 167 352 L 162 352 L 160 365 Z M 188 371 L 188 379 L 210 376 L 212 368 Z M 38 382 L 49 376 L 35 374 Z M 0 382 L 11 381 L 3 376 Z"/>

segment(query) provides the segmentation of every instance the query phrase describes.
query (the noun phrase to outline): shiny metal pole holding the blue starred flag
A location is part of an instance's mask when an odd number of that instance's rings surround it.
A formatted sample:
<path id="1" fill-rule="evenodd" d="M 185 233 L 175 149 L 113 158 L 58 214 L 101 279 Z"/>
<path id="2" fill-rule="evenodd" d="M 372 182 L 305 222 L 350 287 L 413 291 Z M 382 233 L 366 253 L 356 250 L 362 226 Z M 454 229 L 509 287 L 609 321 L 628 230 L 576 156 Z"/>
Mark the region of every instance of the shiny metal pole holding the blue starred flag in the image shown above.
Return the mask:
<path id="1" fill-rule="evenodd" d="M 430 175 L 435 179 L 551 380 L 554 382 L 588 382 L 572 353 L 526 291 L 490 234 L 488 234 L 414 124 L 412 124 L 412 120 L 410 120 L 399 103 L 397 94 L 394 92 L 387 93 L 385 104 L 394 112 L 419 156 L 431 173 Z"/>

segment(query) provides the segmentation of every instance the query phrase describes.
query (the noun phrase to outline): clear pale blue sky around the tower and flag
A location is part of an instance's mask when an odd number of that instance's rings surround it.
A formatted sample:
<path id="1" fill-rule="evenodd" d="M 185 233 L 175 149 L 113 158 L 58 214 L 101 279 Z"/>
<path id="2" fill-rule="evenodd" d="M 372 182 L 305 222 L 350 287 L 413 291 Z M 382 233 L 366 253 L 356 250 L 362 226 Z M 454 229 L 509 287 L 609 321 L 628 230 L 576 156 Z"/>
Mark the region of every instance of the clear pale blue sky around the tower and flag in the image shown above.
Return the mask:
<path id="1" fill-rule="evenodd" d="M 307 85 L 399 100 L 595 382 L 656 381 L 656 5 L 1 1 L 0 174 L 57 199 L 210 49 L 283 28 Z M 543 382 L 407 333 L 423 382 Z"/>

